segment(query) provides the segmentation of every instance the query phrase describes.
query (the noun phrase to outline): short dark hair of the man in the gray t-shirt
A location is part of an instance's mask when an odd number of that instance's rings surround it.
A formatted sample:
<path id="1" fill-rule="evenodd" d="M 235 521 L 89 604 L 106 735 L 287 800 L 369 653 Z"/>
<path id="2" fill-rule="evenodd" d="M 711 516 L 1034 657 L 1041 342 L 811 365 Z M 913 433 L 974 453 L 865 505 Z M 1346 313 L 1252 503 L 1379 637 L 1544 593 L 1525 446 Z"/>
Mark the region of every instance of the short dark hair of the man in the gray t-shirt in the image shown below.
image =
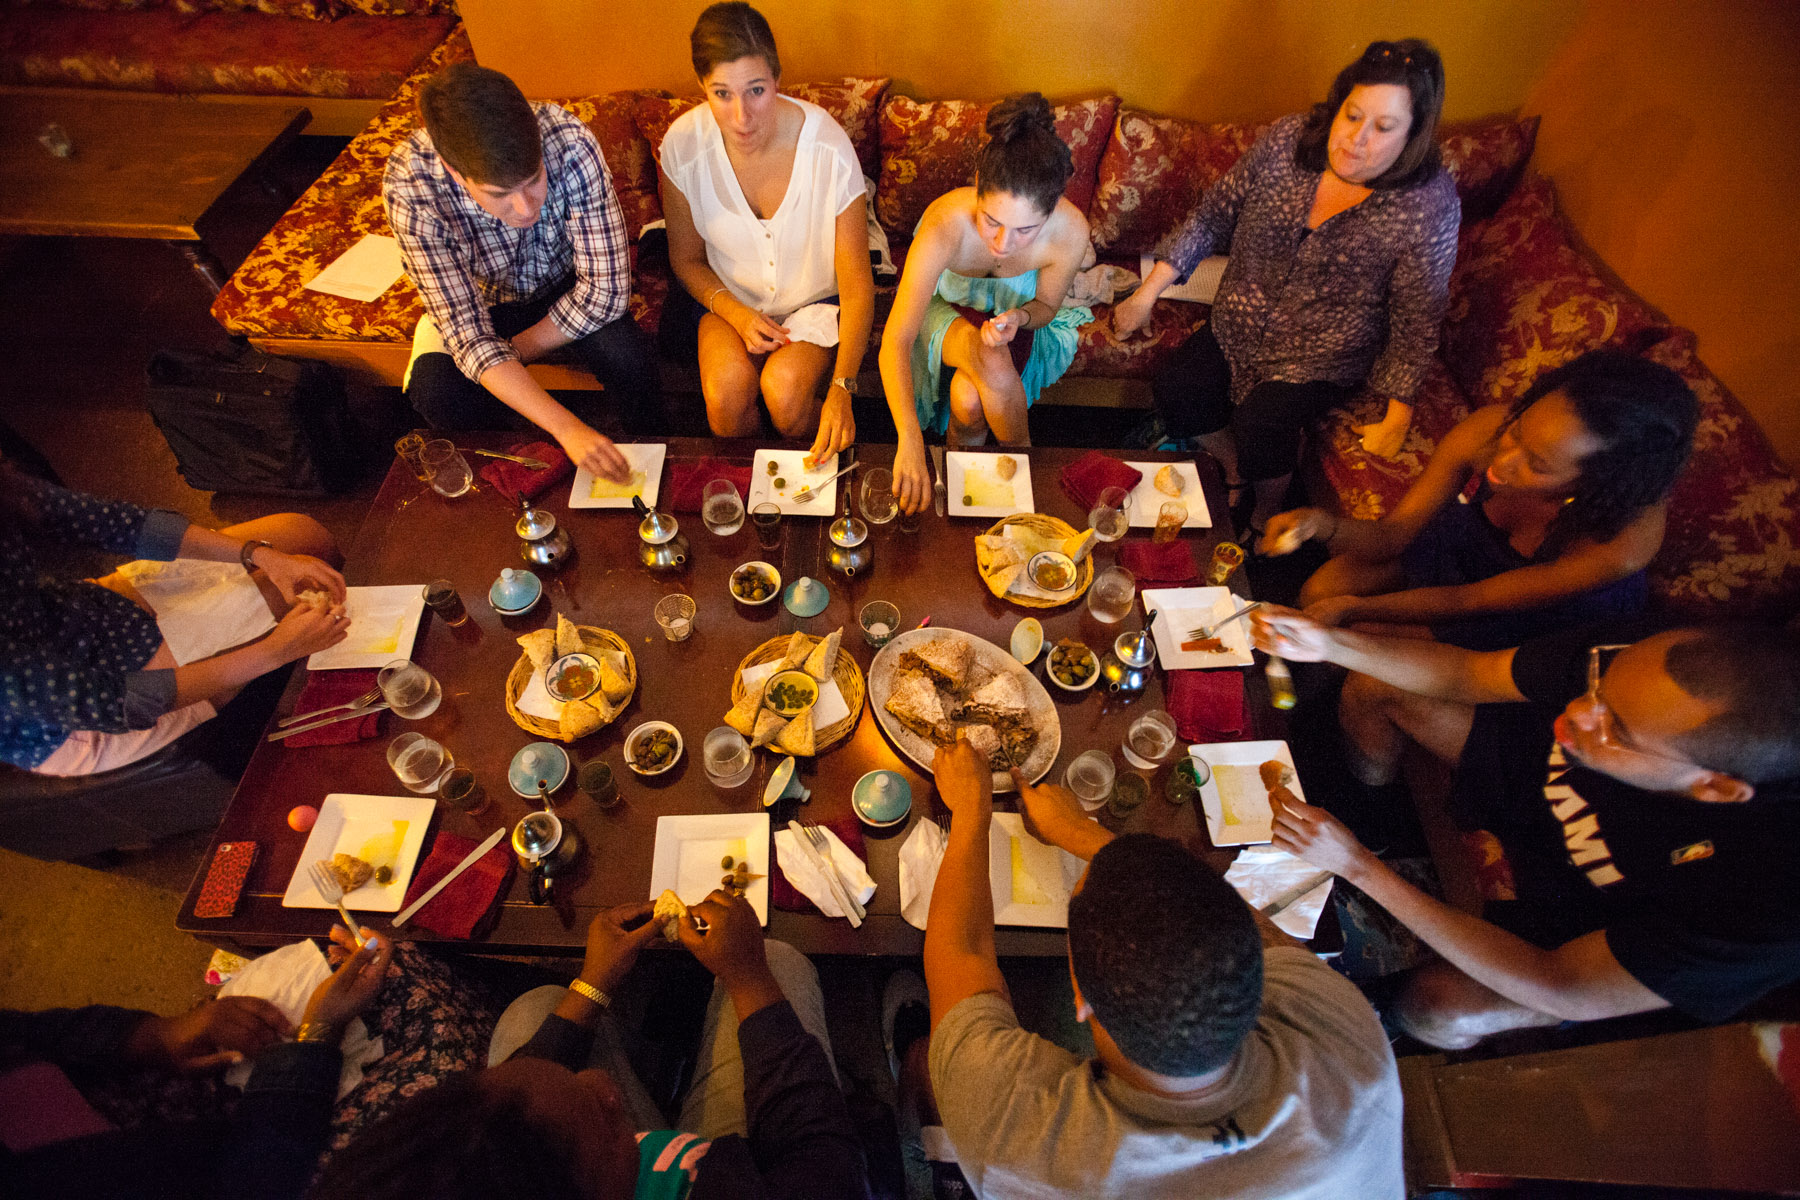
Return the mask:
<path id="1" fill-rule="evenodd" d="M 1262 936 L 1217 871 L 1177 842 L 1109 842 L 1069 898 L 1069 963 L 1125 1058 L 1168 1076 L 1231 1061 L 1262 1009 Z"/>

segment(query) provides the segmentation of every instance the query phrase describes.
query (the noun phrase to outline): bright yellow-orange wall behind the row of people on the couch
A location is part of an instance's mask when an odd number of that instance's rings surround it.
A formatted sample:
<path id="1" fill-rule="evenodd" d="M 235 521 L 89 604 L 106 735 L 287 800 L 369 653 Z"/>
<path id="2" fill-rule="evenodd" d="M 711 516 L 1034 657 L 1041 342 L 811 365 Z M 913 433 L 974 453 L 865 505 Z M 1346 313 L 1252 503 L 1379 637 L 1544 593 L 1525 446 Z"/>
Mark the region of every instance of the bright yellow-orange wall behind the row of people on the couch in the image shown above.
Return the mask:
<path id="1" fill-rule="evenodd" d="M 477 58 L 531 95 L 697 92 L 704 0 L 459 0 Z M 790 81 L 893 76 L 920 99 L 1116 92 L 1152 112 L 1265 119 L 1325 94 L 1377 38 L 1444 52 L 1453 119 L 1519 106 L 1571 0 L 763 0 Z"/>

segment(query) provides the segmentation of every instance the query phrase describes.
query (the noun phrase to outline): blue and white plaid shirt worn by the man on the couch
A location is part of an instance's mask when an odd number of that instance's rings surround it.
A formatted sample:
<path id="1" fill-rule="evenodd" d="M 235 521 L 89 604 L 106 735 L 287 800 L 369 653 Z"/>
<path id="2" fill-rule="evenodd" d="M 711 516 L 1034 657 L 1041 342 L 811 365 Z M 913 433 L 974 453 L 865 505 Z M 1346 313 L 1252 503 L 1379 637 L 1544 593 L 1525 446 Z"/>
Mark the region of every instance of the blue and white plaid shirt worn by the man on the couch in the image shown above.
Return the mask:
<path id="1" fill-rule="evenodd" d="M 574 272 L 551 320 L 571 342 L 625 315 L 632 268 L 625 216 L 599 142 L 554 104 L 533 104 L 544 139 L 549 194 L 531 228 L 511 228 L 475 203 L 430 137 L 418 130 L 387 160 L 382 200 L 418 286 L 455 365 L 470 380 L 518 351 L 493 331 L 488 308 L 529 300 Z"/>

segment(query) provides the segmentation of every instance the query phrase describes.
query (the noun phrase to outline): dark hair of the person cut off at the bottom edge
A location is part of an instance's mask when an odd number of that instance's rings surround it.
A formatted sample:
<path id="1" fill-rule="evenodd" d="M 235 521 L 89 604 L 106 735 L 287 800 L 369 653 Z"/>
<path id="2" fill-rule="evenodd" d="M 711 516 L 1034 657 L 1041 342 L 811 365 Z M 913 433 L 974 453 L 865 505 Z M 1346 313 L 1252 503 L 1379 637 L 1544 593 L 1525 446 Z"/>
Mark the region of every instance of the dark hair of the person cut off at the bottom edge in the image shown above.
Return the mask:
<path id="1" fill-rule="evenodd" d="M 331 1155 L 310 1200 L 583 1200 L 574 1146 L 495 1097 L 479 1070 L 419 1092 Z"/>

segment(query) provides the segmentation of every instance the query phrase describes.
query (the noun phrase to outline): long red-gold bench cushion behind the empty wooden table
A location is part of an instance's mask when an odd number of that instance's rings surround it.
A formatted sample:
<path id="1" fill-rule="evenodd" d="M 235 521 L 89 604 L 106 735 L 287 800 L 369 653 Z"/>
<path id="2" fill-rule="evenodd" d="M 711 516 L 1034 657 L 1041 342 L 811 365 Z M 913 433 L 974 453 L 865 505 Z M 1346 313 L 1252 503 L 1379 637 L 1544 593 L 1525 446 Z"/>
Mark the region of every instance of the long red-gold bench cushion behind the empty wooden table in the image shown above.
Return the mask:
<path id="1" fill-rule="evenodd" d="M 392 95 L 454 16 L 335 22 L 261 13 L 32 9 L 0 22 L 0 83 L 241 95 Z"/>

